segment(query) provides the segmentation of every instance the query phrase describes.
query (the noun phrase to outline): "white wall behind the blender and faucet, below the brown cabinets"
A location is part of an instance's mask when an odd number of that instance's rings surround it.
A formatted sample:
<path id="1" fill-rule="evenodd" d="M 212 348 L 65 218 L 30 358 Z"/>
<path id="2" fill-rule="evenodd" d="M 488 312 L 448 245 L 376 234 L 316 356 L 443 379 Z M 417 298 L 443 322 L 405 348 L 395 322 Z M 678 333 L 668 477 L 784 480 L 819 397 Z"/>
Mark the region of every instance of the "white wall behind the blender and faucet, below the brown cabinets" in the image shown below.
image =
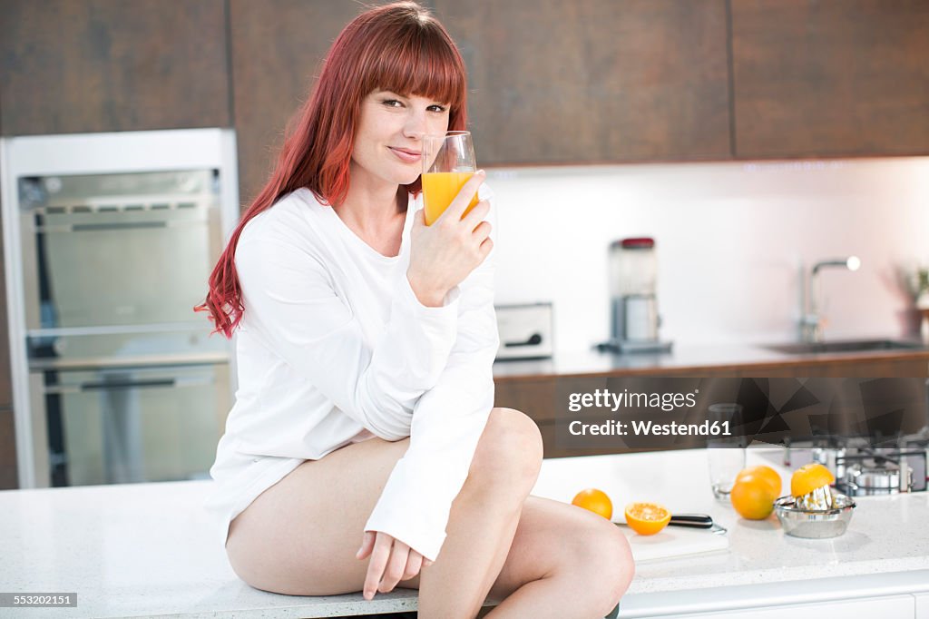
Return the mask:
<path id="1" fill-rule="evenodd" d="M 652 236 L 662 339 L 797 338 L 801 272 L 821 271 L 827 339 L 904 336 L 900 270 L 929 263 L 929 157 L 495 168 L 498 305 L 553 301 L 556 351 L 609 335 L 608 244 Z"/>

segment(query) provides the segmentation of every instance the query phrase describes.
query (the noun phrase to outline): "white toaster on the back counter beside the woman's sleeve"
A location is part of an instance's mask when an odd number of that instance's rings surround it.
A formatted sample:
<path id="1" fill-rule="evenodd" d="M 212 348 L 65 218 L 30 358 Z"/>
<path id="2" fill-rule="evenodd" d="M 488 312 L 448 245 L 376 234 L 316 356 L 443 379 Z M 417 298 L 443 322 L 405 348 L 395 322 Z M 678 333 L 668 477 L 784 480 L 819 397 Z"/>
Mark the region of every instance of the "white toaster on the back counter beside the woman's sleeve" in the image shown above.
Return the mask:
<path id="1" fill-rule="evenodd" d="M 552 356 L 551 303 L 501 305 L 495 310 L 500 332 L 498 360 Z"/>

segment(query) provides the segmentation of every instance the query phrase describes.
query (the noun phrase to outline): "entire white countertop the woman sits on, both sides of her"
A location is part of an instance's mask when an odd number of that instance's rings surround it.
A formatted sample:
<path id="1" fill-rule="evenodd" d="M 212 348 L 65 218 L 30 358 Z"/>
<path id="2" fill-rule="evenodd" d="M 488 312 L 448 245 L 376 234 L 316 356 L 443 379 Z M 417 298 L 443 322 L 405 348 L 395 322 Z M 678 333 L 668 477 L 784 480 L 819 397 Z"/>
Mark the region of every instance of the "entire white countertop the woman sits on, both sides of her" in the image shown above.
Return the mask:
<path id="1" fill-rule="evenodd" d="M 777 466 L 779 454 L 752 450 L 749 464 Z M 726 526 L 728 550 L 640 563 L 622 617 L 929 593 L 929 494 L 860 498 L 843 536 L 803 540 L 786 537 L 773 516 L 739 519 L 713 499 L 706 471 L 702 450 L 550 459 L 533 494 L 567 502 L 593 486 L 619 508 L 658 501 L 672 511 L 709 513 Z M 782 477 L 789 481 L 786 471 Z M 242 619 L 415 609 L 416 593 L 407 589 L 368 602 L 246 586 L 215 546 L 201 509 L 211 483 L 0 492 L 0 588 L 77 592 L 77 608 L 57 609 L 55 617 Z M 0 609 L 7 616 L 38 613 Z"/>

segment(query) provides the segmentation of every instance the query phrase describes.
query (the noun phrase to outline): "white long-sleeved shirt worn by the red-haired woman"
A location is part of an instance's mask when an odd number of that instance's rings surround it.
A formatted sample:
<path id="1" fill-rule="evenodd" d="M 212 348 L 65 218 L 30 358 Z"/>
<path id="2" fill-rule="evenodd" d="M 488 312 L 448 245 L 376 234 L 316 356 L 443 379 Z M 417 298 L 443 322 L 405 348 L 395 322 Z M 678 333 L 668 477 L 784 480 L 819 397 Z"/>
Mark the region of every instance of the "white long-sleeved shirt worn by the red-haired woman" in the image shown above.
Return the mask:
<path id="1" fill-rule="evenodd" d="M 206 504 L 223 543 L 229 521 L 302 462 L 374 436 L 409 436 L 365 531 L 438 556 L 493 406 L 499 340 L 494 252 L 442 307 L 413 294 L 406 271 L 421 207 L 411 196 L 397 257 L 365 244 L 306 189 L 242 230 L 239 389 Z"/>

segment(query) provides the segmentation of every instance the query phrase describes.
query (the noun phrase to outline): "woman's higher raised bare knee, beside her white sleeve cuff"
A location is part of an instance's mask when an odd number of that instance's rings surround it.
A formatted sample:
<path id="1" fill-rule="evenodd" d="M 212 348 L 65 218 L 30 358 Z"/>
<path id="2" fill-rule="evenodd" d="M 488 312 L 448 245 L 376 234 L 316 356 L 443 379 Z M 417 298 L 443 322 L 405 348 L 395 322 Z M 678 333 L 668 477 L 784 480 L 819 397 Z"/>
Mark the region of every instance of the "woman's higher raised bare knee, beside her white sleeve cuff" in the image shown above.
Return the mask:
<path id="1" fill-rule="evenodd" d="M 543 445 L 539 427 L 529 416 L 512 408 L 494 408 L 478 441 L 469 477 L 528 493 L 539 477 Z"/>

